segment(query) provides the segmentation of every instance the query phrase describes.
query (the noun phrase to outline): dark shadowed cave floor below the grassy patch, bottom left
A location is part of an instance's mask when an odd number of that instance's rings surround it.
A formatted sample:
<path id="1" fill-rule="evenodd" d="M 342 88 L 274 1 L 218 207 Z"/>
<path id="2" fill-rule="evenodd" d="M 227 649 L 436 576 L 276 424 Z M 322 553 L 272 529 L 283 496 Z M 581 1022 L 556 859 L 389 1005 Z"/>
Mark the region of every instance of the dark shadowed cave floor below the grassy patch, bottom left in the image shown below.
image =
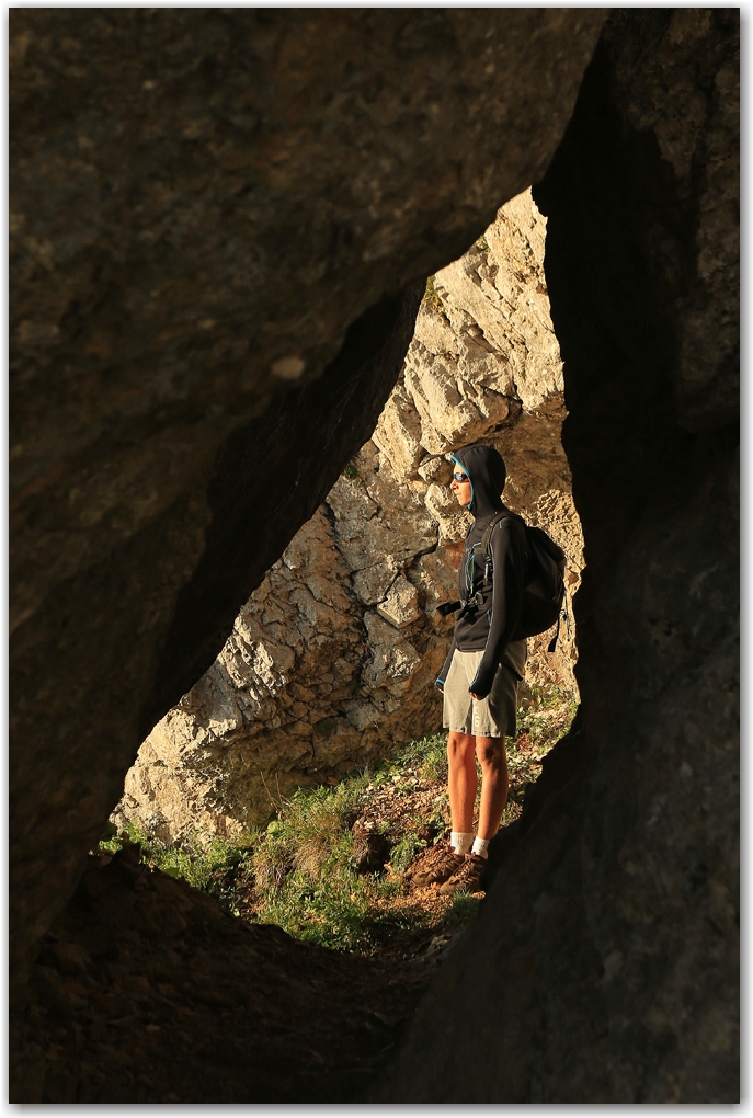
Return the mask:
<path id="1" fill-rule="evenodd" d="M 437 956 L 366 959 L 249 926 L 140 853 L 89 858 L 46 934 L 10 1101 L 358 1100 Z"/>

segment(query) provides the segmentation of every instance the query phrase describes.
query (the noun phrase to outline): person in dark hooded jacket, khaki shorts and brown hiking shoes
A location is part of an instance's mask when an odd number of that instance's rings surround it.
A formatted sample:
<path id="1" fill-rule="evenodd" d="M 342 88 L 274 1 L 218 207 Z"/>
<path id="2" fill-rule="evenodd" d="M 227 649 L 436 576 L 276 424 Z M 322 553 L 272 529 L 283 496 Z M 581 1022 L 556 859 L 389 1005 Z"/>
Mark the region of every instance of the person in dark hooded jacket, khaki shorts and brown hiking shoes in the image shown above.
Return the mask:
<path id="1" fill-rule="evenodd" d="M 525 638 L 516 633 L 523 606 L 526 528 L 502 502 L 505 463 L 494 447 L 482 445 L 464 447 L 449 457 L 456 466 L 450 487 L 474 515 L 458 571 L 464 604 L 437 679 L 444 695 L 442 722 L 449 730 L 452 830 L 449 845 L 438 846 L 436 856 L 413 879 L 419 887 L 440 883 L 442 893 L 483 888 L 487 846 L 507 800 L 505 736 L 515 735 L 517 686 L 527 651 Z M 445 612 L 460 605 L 452 603 Z M 474 833 L 476 757 L 482 766 L 482 796 Z"/>

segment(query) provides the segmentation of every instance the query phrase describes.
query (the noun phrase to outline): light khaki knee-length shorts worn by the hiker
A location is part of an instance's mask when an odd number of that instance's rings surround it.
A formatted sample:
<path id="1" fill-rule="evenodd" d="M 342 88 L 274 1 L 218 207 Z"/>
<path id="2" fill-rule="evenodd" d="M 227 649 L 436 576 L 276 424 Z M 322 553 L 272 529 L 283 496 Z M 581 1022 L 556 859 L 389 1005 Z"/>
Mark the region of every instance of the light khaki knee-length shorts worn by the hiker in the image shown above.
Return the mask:
<path id="1" fill-rule="evenodd" d="M 513 641 L 507 645 L 505 659 L 523 675 L 527 642 Z M 515 737 L 518 680 L 501 664 L 486 699 L 474 699 L 468 693 L 484 652 L 455 650 L 452 663 L 445 681 L 442 723 L 446 730 L 470 733 L 478 738 Z"/>

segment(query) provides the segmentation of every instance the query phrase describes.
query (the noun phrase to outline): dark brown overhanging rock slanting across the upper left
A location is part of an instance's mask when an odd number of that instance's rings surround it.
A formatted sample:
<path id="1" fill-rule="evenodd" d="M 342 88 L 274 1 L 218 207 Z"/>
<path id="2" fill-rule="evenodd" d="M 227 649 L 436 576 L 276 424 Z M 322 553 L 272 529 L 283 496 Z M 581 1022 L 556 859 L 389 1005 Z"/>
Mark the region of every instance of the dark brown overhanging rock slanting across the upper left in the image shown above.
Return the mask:
<path id="1" fill-rule="evenodd" d="M 373 429 L 399 292 L 547 165 L 602 21 L 12 12 L 15 959 Z"/>

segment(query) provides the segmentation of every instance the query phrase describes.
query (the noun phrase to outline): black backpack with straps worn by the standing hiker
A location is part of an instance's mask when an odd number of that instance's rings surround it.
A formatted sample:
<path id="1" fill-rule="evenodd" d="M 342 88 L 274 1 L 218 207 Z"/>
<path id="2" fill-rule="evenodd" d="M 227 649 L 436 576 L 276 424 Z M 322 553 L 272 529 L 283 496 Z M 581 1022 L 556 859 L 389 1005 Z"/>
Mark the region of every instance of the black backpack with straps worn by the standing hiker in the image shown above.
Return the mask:
<path id="1" fill-rule="evenodd" d="M 468 610 L 483 605 L 492 593 L 492 579 L 494 577 L 492 549 L 489 541 L 496 524 L 505 517 L 514 517 L 525 529 L 526 541 L 526 572 L 523 588 L 523 608 L 521 618 L 515 629 L 514 639 L 522 641 L 524 637 L 537 636 L 545 633 L 556 622 L 556 633 L 549 644 L 547 652 L 554 652 L 557 637 L 560 635 L 560 613 L 564 598 L 564 568 L 565 553 L 562 548 L 547 536 L 543 528 L 535 528 L 526 524 L 522 517 L 515 512 L 501 512 L 487 524 L 482 537 L 482 551 L 485 555 L 484 580 L 482 585 L 474 588 L 470 597 L 463 601 L 448 601 L 438 607 L 438 612 L 446 616 L 454 609 L 460 608 L 458 617 Z"/>

